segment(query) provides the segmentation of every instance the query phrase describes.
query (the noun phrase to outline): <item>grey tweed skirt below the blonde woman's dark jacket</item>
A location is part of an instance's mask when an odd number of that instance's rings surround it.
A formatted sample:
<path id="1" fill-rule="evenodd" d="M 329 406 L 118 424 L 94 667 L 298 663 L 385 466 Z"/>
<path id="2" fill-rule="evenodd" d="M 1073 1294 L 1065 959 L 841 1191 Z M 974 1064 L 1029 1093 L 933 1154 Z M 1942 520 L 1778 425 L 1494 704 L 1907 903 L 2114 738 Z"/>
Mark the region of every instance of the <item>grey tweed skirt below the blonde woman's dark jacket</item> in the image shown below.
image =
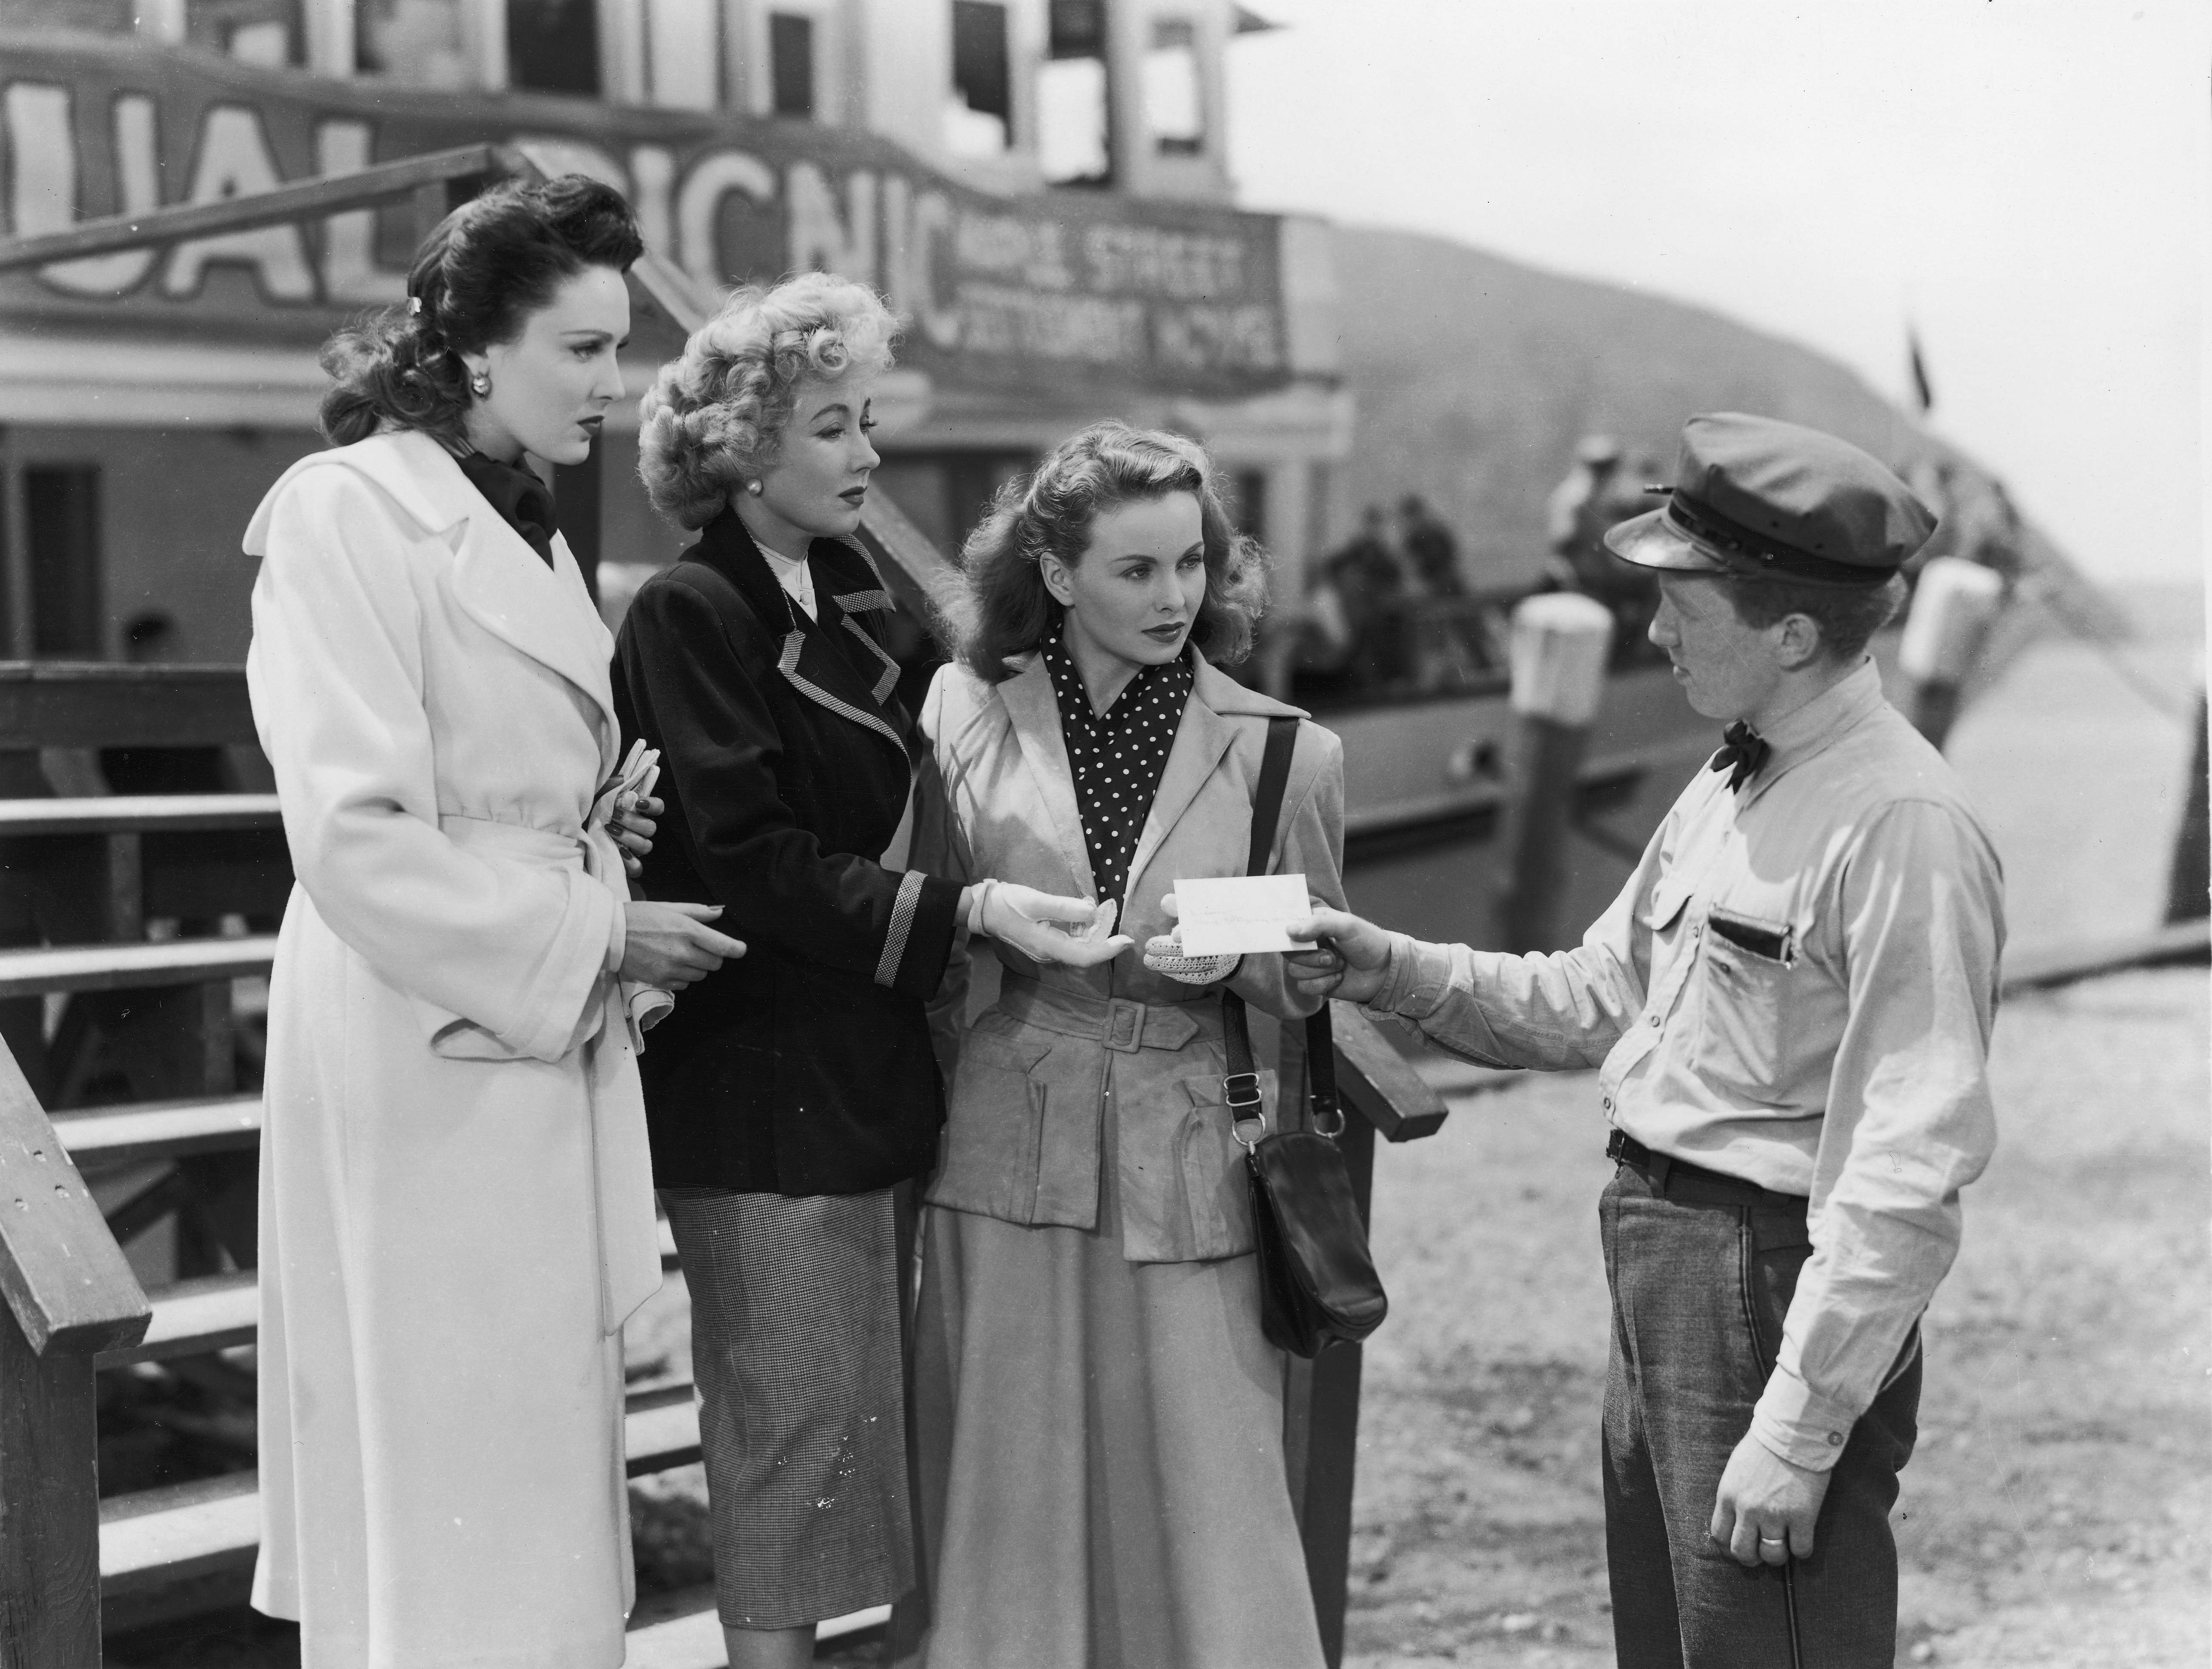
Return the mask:
<path id="1" fill-rule="evenodd" d="M 787 1629 L 914 1585 L 891 1189 L 664 1189 L 692 1300 L 714 1609 Z"/>

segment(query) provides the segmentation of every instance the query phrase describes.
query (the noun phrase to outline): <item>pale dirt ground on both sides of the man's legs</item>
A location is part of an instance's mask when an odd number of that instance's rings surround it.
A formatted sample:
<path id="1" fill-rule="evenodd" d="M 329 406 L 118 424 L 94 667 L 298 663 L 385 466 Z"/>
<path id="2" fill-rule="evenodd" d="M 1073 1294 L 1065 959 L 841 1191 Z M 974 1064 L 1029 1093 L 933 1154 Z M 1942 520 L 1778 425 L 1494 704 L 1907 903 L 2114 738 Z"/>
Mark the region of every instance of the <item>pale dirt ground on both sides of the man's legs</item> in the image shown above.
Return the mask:
<path id="1" fill-rule="evenodd" d="M 1900 1660 L 2188 1665 L 2212 1651 L 2201 968 L 2022 997 L 2004 1145 L 1927 1322 Z M 2177 1048 L 2177 1041 L 2197 1048 Z M 1347 1662 L 1613 1662 L 1597 1406 L 1608 1165 L 1586 1074 L 1458 1096 L 1389 1150 Z"/>

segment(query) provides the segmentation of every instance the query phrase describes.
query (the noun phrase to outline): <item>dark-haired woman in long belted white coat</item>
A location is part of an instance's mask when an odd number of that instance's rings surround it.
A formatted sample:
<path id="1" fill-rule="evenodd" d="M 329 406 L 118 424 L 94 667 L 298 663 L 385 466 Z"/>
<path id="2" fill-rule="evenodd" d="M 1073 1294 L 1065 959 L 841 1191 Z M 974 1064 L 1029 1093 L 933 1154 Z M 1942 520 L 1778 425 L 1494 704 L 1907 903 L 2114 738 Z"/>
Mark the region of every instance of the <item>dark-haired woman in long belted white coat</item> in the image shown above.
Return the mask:
<path id="1" fill-rule="evenodd" d="M 628 206 L 456 210 L 341 332 L 246 535 L 299 884 L 270 984 L 261 1563 L 307 1669 L 613 1669 L 633 1598 L 622 1322 L 659 1289 L 619 982 L 743 946 L 633 904 L 611 641 L 524 453 L 622 396 Z"/>

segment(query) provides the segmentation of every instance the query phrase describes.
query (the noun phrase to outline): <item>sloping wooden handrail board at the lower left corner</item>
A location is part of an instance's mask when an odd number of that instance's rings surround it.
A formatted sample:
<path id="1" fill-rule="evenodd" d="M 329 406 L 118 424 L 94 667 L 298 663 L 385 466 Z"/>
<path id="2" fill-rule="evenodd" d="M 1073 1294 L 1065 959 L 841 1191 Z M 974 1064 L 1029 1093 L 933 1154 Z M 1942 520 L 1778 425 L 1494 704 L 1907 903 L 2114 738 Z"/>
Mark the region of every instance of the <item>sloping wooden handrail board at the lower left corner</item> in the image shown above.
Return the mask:
<path id="1" fill-rule="evenodd" d="M 146 1295 L 53 1123 L 0 1050 L 0 1291 L 33 1355 L 135 1342 Z"/>

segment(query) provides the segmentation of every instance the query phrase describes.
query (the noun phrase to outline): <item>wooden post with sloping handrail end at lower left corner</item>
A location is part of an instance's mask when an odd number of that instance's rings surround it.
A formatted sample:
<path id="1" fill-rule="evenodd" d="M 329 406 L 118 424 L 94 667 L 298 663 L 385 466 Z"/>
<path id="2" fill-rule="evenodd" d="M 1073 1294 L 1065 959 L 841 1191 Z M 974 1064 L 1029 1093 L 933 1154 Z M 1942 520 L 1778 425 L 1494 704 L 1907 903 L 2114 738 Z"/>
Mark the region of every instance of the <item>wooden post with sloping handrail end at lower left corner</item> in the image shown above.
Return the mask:
<path id="1" fill-rule="evenodd" d="M 0 1669 L 100 1669 L 93 1357 L 148 1306 L 11 1054 L 0 1054 Z"/>

